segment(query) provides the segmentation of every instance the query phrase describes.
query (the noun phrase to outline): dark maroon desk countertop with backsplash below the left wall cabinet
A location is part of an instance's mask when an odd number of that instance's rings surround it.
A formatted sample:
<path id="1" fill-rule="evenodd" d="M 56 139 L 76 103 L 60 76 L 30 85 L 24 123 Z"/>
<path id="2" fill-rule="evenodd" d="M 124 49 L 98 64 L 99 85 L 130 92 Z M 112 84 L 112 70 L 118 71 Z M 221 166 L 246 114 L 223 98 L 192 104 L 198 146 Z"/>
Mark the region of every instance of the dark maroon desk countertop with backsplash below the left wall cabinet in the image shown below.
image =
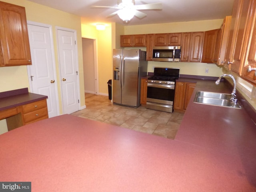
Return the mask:
<path id="1" fill-rule="evenodd" d="M 28 88 L 6 91 L 0 93 L 0 111 L 25 105 L 39 100 L 47 99 L 48 96 L 29 93 Z"/>

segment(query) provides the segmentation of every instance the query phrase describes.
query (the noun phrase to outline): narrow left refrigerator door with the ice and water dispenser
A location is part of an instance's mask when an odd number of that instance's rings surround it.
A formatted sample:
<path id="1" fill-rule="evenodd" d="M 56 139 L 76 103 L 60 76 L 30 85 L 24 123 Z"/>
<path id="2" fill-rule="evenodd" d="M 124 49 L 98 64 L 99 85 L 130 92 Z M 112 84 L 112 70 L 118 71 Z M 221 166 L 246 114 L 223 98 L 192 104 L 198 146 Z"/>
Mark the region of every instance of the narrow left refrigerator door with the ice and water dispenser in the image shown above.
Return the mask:
<path id="1" fill-rule="evenodd" d="M 113 79 L 112 79 L 112 101 L 121 104 L 121 70 L 122 70 L 122 49 L 113 50 Z"/>

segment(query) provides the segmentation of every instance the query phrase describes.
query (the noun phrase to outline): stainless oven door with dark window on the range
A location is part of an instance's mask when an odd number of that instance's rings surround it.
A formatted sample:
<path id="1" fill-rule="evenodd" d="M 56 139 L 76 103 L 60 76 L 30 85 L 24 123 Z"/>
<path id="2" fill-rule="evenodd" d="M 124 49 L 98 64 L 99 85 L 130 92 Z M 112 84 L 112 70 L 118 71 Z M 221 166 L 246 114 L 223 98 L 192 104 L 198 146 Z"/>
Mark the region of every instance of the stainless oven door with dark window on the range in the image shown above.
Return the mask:
<path id="1" fill-rule="evenodd" d="M 175 85 L 148 82 L 147 102 L 173 105 Z"/>

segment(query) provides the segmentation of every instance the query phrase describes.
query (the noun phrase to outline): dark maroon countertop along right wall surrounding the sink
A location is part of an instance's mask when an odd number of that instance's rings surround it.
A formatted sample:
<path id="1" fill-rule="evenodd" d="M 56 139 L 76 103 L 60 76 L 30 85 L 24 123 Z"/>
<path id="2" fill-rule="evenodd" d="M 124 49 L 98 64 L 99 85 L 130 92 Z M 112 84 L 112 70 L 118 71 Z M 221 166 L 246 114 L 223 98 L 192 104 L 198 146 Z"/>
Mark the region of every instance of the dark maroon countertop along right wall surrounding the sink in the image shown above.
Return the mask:
<path id="1" fill-rule="evenodd" d="M 193 102 L 198 90 L 230 94 L 232 89 L 227 85 L 227 82 L 222 81 L 217 86 L 214 80 L 194 81 L 196 87 L 175 140 L 255 159 L 256 125 L 245 109 Z"/>

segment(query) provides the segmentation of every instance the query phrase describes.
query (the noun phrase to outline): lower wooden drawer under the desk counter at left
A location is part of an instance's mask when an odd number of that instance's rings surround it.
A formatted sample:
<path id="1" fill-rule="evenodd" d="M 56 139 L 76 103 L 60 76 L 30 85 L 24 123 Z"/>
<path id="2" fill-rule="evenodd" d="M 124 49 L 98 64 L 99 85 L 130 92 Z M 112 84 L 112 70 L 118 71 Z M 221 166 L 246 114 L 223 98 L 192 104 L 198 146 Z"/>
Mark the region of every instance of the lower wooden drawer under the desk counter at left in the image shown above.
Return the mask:
<path id="1" fill-rule="evenodd" d="M 23 115 L 25 124 L 28 124 L 29 122 L 40 120 L 48 118 L 48 110 L 46 108 L 38 109 L 33 112 L 27 113 Z"/>

